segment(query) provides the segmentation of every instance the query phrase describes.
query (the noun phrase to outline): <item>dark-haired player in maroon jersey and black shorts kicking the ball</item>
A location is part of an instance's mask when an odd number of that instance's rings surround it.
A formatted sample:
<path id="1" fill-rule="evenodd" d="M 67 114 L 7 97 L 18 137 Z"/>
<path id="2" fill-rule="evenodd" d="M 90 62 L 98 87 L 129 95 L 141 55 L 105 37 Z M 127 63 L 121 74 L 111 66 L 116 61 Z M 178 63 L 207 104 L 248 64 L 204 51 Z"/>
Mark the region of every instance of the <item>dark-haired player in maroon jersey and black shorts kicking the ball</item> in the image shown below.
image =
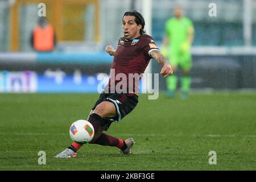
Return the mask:
<path id="1" fill-rule="evenodd" d="M 131 154 L 133 138 L 122 140 L 102 132 L 108 130 L 112 122 L 119 122 L 138 104 L 139 79 L 151 58 L 162 65 L 160 74 L 164 77 L 172 75 L 172 69 L 151 36 L 144 32 L 145 22 L 140 13 L 126 12 L 122 23 L 123 37 L 119 39 L 117 49 L 106 46 L 106 52 L 114 56 L 112 71 L 110 71 L 109 84 L 106 85 L 89 114 L 88 121 L 94 127 L 94 137 L 89 143 L 118 147 L 122 154 Z M 118 75 L 125 75 L 126 78 L 122 77 L 119 80 Z M 121 81 L 122 86 L 119 88 L 118 84 Z M 80 147 L 81 144 L 73 142 L 55 158 L 74 157 Z"/>

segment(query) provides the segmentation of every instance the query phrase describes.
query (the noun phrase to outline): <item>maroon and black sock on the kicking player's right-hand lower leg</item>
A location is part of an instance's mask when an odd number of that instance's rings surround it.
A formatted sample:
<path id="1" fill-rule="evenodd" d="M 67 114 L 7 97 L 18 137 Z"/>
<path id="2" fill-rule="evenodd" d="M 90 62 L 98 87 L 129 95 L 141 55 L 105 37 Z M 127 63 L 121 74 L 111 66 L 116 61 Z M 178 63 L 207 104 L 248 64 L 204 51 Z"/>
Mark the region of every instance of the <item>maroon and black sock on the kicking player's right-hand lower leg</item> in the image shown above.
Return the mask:
<path id="1" fill-rule="evenodd" d="M 124 140 L 112 137 L 105 133 L 102 133 L 100 137 L 98 137 L 98 139 L 95 142 L 93 142 L 93 144 L 100 144 L 101 146 L 118 147 L 121 150 L 123 150 L 123 148 L 127 148 Z"/>

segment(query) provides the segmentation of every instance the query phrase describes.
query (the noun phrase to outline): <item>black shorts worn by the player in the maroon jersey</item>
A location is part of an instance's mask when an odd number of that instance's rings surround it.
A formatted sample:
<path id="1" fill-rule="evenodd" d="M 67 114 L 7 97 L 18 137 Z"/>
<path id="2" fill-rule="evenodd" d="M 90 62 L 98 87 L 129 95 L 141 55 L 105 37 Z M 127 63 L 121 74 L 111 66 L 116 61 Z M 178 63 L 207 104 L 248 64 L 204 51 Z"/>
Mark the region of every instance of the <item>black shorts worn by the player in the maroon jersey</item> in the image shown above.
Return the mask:
<path id="1" fill-rule="evenodd" d="M 98 104 L 104 101 L 112 102 L 115 105 L 115 111 L 117 113 L 117 116 L 114 118 L 103 118 L 104 123 L 102 123 L 102 125 L 107 126 L 106 130 L 108 130 L 112 122 L 121 121 L 123 117 L 129 114 L 137 106 L 138 96 L 136 94 L 103 92 L 100 94 L 100 98 L 93 106 L 92 111 L 96 108 Z M 90 112 L 90 114 L 92 114 L 92 111 Z"/>

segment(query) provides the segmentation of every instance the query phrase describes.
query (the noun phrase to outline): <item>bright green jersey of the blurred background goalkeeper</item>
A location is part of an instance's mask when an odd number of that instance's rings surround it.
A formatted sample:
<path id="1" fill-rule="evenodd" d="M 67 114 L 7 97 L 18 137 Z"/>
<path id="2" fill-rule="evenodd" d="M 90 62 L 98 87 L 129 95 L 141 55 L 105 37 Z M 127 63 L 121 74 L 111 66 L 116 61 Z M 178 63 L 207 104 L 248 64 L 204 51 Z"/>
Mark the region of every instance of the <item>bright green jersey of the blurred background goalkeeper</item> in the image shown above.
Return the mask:
<path id="1" fill-rule="evenodd" d="M 179 49 L 188 40 L 188 29 L 193 27 L 193 23 L 188 18 L 171 18 L 166 22 L 166 35 L 169 37 L 170 47 Z"/>

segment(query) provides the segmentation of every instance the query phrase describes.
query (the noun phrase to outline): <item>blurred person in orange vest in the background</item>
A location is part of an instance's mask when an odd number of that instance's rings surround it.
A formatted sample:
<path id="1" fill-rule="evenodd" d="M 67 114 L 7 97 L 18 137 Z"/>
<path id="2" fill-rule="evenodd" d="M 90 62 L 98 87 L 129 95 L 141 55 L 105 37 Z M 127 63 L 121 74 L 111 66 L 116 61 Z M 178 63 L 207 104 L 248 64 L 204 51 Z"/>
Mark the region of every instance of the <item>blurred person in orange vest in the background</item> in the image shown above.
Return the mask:
<path id="1" fill-rule="evenodd" d="M 32 31 L 31 46 L 39 52 L 51 52 L 56 46 L 54 28 L 44 17 L 39 18 L 38 26 Z"/>

